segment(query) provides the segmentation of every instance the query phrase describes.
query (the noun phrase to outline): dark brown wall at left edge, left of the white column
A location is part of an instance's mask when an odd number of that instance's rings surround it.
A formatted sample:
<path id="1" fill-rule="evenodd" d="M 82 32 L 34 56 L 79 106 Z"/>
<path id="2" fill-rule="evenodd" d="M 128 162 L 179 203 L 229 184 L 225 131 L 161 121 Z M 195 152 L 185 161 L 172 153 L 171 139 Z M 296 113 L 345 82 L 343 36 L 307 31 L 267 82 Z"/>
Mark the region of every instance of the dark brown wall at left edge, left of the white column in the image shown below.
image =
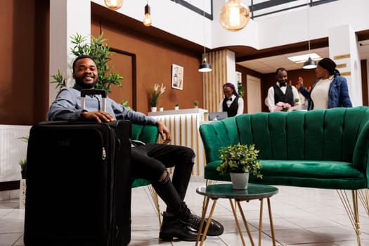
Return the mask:
<path id="1" fill-rule="evenodd" d="M 44 120 L 48 13 L 48 0 L 0 1 L 0 124 Z"/>

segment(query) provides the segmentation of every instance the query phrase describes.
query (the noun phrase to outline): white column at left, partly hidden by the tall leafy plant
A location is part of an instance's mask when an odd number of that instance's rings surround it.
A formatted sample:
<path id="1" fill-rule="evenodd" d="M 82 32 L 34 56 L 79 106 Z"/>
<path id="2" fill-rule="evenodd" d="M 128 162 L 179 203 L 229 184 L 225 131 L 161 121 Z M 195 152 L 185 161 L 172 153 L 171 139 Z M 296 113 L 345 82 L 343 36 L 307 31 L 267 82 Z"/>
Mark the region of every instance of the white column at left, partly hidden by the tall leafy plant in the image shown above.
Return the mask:
<path id="1" fill-rule="evenodd" d="M 74 84 L 72 79 L 72 61 L 70 36 L 81 34 L 90 41 L 91 1 L 90 0 L 50 0 L 50 61 L 49 75 L 56 75 L 58 69 L 67 84 Z M 49 81 L 53 79 L 49 77 Z M 50 84 L 49 102 L 52 103 L 58 91 L 55 84 Z"/>

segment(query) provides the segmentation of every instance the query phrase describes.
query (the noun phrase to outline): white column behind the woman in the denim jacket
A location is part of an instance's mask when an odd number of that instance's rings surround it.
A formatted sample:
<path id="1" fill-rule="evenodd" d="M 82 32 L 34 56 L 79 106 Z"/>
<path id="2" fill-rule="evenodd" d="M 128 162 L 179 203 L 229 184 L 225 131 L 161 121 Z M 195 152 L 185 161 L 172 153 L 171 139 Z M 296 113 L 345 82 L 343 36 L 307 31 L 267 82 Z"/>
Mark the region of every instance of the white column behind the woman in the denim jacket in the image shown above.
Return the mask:
<path id="1" fill-rule="evenodd" d="M 337 70 L 347 79 L 349 95 L 354 106 L 363 105 L 361 93 L 361 65 L 357 38 L 350 25 L 332 27 L 328 30 L 330 58 Z"/>

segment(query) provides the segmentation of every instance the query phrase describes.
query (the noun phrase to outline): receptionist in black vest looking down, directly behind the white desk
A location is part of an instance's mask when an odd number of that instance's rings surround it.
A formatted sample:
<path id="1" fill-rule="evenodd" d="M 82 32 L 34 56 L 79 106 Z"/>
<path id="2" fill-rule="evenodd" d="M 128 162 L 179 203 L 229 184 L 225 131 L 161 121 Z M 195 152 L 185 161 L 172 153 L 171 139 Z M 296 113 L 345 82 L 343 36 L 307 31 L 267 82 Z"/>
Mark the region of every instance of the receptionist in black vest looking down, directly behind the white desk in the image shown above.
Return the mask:
<path id="1" fill-rule="evenodd" d="M 227 112 L 228 117 L 243 114 L 243 99 L 238 96 L 232 83 L 223 85 L 224 99 L 219 103 L 218 112 Z"/>

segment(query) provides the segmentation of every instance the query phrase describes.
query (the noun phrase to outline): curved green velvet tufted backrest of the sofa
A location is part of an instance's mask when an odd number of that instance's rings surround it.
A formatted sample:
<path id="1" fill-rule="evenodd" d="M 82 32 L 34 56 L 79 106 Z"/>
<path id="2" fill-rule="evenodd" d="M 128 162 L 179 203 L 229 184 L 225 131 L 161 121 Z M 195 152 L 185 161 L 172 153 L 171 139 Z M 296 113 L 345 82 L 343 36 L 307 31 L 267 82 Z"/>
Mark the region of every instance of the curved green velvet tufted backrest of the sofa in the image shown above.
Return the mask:
<path id="1" fill-rule="evenodd" d="M 369 108 L 259 112 L 202 124 L 207 163 L 219 148 L 255 143 L 262 160 L 339 160 L 352 162 L 356 141 L 369 121 Z M 368 123 L 369 124 L 369 123 Z"/>

